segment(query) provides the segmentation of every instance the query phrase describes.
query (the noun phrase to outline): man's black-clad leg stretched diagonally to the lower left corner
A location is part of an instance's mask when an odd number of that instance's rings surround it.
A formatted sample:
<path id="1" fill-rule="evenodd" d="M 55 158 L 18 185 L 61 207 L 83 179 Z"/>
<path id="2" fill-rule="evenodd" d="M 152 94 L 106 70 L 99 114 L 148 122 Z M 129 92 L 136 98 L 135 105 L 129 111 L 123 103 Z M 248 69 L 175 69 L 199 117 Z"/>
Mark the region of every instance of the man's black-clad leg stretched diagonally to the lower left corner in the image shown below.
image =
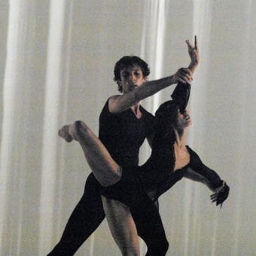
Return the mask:
<path id="1" fill-rule="evenodd" d="M 60 241 L 48 255 L 74 255 L 83 242 L 99 227 L 104 218 L 99 183 L 91 173 L 87 178 L 83 197 L 72 212 Z"/>

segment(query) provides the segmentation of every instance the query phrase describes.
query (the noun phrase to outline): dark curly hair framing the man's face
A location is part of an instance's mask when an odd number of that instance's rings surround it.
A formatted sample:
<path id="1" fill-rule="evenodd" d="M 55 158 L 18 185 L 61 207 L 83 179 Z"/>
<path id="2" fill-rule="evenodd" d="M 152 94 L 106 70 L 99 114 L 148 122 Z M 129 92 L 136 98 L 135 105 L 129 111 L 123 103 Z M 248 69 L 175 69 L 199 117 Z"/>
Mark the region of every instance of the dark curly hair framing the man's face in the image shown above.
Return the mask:
<path id="1" fill-rule="evenodd" d="M 117 82 L 118 90 L 123 92 L 123 87 L 120 84 L 120 71 L 128 66 L 139 66 L 142 69 L 143 77 L 147 77 L 150 74 L 148 63 L 138 56 L 123 56 L 119 59 L 114 66 L 114 81 Z"/>

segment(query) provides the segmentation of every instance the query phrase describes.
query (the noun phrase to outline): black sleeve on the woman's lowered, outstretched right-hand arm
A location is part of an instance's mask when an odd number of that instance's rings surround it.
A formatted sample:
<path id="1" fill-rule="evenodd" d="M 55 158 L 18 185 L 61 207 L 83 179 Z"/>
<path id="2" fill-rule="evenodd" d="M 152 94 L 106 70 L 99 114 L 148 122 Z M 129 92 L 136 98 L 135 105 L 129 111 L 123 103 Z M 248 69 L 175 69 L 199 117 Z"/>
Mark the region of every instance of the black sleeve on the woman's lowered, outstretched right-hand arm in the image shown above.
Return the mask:
<path id="1" fill-rule="evenodd" d="M 221 180 L 220 176 L 214 170 L 204 165 L 197 153 L 195 153 L 190 148 L 188 148 L 188 150 L 190 153 L 190 164 L 189 169 L 184 176 L 187 178 L 191 178 L 191 175 L 194 175 L 194 178 L 192 177 L 191 179 L 202 181 L 212 190 L 221 187 L 223 185 L 223 181 Z M 192 172 L 194 172 L 194 174 L 189 173 L 190 169 L 192 170 Z"/>

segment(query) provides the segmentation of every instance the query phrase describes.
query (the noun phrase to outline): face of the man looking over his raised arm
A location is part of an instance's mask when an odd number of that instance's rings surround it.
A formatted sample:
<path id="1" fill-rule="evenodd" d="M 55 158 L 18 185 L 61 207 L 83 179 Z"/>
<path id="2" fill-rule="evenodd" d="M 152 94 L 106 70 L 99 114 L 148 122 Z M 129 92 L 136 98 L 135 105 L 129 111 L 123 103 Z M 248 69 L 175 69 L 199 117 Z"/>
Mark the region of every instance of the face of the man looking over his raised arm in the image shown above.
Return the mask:
<path id="1" fill-rule="evenodd" d="M 128 66 L 122 69 L 120 71 L 120 78 L 123 93 L 129 93 L 147 80 L 147 78 L 143 77 L 142 69 L 139 66 Z"/>

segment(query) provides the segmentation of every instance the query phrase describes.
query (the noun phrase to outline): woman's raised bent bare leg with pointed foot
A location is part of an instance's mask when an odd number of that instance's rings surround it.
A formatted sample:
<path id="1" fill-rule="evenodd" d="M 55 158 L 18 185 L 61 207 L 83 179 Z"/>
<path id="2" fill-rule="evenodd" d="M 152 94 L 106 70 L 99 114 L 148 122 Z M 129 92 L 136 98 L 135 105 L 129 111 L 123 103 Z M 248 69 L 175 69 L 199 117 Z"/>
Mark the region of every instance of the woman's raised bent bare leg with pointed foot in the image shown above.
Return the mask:
<path id="1" fill-rule="evenodd" d="M 102 186 L 110 186 L 119 181 L 122 174 L 120 166 L 113 160 L 93 131 L 82 121 L 75 121 L 75 123 L 68 126 L 68 129 L 66 127 L 62 127 L 59 136 L 66 139 L 69 135 L 79 142 L 87 163 L 99 183 Z M 66 139 L 66 141 L 68 140 Z"/>

